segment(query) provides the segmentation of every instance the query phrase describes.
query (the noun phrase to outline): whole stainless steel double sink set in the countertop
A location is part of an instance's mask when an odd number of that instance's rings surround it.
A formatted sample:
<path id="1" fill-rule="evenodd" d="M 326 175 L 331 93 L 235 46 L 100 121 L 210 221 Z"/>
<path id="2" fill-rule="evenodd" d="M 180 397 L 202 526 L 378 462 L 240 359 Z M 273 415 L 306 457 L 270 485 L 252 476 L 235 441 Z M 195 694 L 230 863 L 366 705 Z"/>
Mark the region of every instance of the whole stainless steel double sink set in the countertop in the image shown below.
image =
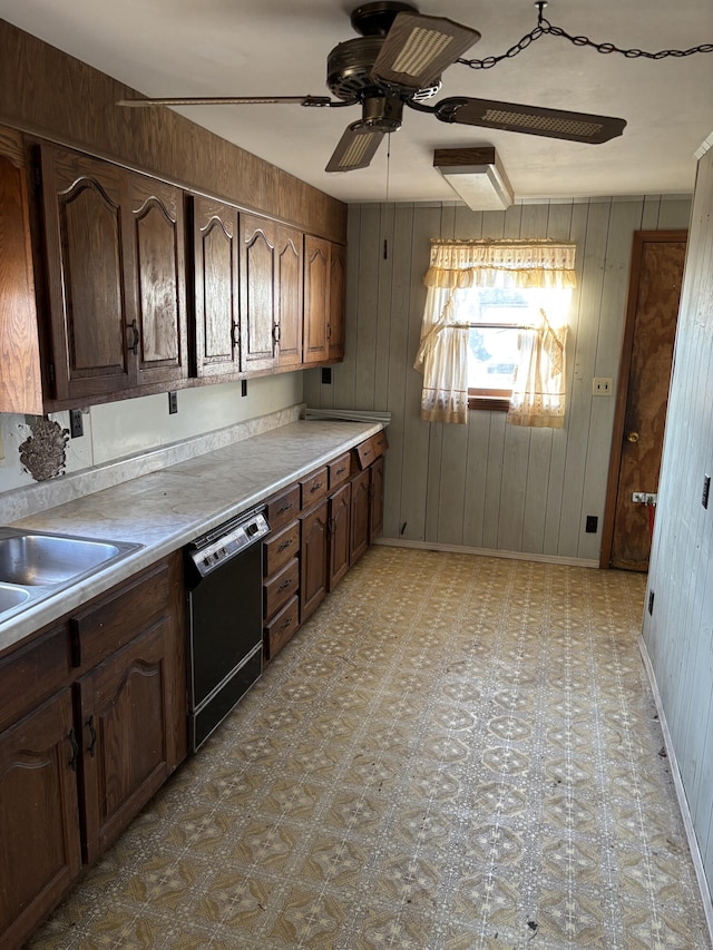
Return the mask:
<path id="1" fill-rule="evenodd" d="M 0 621 L 140 547 L 127 541 L 0 528 Z"/>

